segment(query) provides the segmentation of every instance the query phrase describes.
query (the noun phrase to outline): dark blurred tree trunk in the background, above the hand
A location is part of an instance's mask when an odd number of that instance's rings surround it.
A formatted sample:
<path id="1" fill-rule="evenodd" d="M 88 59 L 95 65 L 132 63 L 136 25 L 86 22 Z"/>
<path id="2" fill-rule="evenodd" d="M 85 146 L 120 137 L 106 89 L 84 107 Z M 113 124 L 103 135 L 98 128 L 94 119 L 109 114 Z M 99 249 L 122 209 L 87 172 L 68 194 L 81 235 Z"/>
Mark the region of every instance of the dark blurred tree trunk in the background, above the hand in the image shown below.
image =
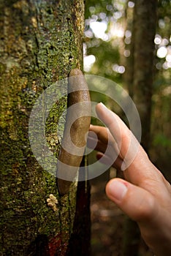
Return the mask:
<path id="1" fill-rule="evenodd" d="M 135 1 L 134 6 L 134 103 L 142 123 L 142 146 L 151 141 L 151 97 L 156 32 L 156 0 Z"/>

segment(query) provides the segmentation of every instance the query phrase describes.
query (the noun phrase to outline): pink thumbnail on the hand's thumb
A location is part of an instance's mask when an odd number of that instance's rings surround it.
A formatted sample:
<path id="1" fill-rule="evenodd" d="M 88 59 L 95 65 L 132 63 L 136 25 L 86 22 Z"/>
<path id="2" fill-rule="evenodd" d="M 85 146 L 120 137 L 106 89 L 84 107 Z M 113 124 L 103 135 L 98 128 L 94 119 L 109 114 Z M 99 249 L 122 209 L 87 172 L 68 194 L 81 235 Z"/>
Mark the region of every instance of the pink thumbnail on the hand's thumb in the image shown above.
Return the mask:
<path id="1" fill-rule="evenodd" d="M 123 182 L 114 179 L 113 181 L 110 181 L 107 190 L 113 199 L 122 200 L 128 189 Z"/>

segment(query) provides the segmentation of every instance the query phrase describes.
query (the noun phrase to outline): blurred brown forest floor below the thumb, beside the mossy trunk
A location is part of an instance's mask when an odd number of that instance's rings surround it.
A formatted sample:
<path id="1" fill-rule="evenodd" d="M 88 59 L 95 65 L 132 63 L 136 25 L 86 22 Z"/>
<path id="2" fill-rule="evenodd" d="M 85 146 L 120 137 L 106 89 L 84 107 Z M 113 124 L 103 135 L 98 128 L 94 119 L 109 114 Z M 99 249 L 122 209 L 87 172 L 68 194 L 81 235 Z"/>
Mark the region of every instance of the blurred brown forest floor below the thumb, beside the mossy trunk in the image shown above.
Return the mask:
<path id="1" fill-rule="evenodd" d="M 91 180 L 91 255 L 121 256 L 126 216 L 105 194 L 107 175 Z M 132 256 L 132 255 L 126 255 Z M 137 256 L 153 256 L 140 241 Z"/>

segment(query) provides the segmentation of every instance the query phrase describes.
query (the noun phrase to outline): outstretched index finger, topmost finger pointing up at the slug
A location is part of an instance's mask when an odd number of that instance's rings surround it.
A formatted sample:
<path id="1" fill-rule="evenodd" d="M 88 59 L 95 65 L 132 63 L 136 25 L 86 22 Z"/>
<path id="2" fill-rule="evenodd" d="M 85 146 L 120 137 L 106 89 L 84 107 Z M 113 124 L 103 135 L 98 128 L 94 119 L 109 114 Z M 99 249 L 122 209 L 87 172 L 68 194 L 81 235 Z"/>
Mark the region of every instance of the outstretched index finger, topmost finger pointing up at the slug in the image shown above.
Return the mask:
<path id="1" fill-rule="evenodd" d="M 121 169 L 125 170 L 124 173 L 129 181 L 132 181 L 134 184 L 140 184 L 142 179 L 154 178 L 153 164 L 121 118 L 107 109 L 102 103 L 96 105 L 96 113 L 110 129 L 110 133 L 118 143 L 123 159 Z"/>

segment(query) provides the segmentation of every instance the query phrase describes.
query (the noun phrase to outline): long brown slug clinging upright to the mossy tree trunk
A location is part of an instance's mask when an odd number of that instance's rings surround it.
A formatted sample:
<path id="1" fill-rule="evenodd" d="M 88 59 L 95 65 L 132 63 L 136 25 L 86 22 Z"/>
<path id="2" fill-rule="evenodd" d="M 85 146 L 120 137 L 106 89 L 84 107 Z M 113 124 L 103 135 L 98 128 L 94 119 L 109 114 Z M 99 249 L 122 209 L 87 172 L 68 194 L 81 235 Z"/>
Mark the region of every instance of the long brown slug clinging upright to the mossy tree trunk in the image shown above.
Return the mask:
<path id="1" fill-rule="evenodd" d="M 69 187 L 77 176 L 90 122 L 91 99 L 88 85 L 80 69 L 72 69 L 69 73 L 66 123 L 57 164 L 59 195 L 69 192 Z"/>

